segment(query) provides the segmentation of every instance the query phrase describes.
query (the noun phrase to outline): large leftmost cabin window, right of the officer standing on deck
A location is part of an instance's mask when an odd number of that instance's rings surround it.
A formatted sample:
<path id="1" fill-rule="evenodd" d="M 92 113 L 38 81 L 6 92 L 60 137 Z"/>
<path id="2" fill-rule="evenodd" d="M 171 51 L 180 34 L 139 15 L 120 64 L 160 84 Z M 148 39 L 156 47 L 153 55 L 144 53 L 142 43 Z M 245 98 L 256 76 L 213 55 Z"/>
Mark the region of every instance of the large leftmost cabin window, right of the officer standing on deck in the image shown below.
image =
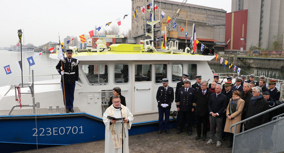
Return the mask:
<path id="1" fill-rule="evenodd" d="M 82 69 L 92 85 L 106 84 L 108 82 L 108 68 L 104 64 L 82 65 Z"/>

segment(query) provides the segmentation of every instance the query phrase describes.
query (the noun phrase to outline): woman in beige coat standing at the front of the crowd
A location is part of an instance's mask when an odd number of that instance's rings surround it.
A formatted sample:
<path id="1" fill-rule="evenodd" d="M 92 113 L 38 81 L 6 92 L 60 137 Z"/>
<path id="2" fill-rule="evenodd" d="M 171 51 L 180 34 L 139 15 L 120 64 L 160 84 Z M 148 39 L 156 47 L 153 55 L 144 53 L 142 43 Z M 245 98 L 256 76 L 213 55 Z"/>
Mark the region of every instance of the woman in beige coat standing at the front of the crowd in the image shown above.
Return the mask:
<path id="1" fill-rule="evenodd" d="M 233 146 L 233 138 L 234 138 L 234 131 L 235 127 L 232 128 L 232 132 L 230 131 L 230 126 L 241 121 L 241 112 L 244 105 L 244 100 L 240 99 L 239 91 L 235 90 L 233 92 L 233 97 L 230 100 L 227 106 L 226 112 L 226 124 L 224 131 L 229 133 L 230 145 L 227 146 L 228 148 Z M 237 125 L 237 133 L 239 133 L 240 124 Z"/>

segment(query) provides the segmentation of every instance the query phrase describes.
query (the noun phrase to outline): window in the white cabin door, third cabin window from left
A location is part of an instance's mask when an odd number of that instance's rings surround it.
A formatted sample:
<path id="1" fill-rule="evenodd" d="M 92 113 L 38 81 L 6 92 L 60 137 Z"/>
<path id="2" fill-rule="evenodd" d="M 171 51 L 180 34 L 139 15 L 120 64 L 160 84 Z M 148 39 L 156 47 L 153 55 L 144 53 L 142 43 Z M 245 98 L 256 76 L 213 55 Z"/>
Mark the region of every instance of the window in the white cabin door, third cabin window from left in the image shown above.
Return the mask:
<path id="1" fill-rule="evenodd" d="M 136 64 L 135 65 L 135 81 L 152 81 L 152 65 Z"/>

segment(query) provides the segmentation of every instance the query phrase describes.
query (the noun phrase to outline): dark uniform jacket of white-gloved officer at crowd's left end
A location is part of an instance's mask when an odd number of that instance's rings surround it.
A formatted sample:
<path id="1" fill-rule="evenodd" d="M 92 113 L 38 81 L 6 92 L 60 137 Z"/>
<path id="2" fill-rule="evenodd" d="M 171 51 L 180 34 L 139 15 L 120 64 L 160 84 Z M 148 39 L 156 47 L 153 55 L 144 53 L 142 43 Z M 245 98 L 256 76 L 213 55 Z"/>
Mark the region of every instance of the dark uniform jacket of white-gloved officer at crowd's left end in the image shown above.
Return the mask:
<path id="1" fill-rule="evenodd" d="M 157 91 L 156 99 L 159 108 L 163 108 L 161 106 L 162 103 L 169 105 L 166 108 L 171 108 L 172 102 L 174 101 L 174 88 L 168 86 L 167 91 L 165 91 L 165 87 L 160 86 Z"/>

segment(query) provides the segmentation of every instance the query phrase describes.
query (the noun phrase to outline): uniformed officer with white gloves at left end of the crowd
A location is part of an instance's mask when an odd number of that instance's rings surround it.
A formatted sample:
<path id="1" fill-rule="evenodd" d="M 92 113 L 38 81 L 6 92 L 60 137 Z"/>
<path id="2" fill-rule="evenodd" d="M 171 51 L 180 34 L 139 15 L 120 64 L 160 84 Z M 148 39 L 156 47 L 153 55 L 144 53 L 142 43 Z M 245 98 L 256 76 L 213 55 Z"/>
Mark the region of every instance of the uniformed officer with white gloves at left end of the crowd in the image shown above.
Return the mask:
<path id="1" fill-rule="evenodd" d="M 169 119 L 170 119 L 170 110 L 172 102 L 174 101 L 174 88 L 168 86 L 169 79 L 162 79 L 163 86 L 160 86 L 157 91 L 156 99 L 158 102 L 159 110 L 159 131 L 158 134 L 161 134 L 163 130 L 163 118 L 165 115 L 165 125 L 164 130 L 169 134 Z"/>

